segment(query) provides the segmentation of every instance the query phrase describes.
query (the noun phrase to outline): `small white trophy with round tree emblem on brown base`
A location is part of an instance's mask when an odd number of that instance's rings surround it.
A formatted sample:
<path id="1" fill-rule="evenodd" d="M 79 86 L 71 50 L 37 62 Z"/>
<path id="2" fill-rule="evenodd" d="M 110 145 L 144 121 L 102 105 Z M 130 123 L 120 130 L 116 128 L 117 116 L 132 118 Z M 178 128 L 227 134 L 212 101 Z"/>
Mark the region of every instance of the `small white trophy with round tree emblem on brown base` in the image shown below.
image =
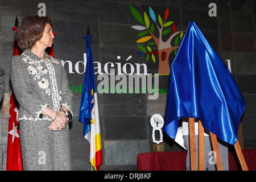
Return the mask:
<path id="1" fill-rule="evenodd" d="M 153 139 L 153 151 L 154 152 L 163 152 L 164 151 L 164 144 L 163 142 L 163 133 L 162 133 L 162 127 L 164 125 L 164 119 L 162 115 L 160 114 L 154 114 L 150 118 L 150 124 L 153 128 L 152 130 L 152 139 Z M 155 139 L 155 133 L 156 131 L 159 131 L 160 133 L 160 140 Z"/>

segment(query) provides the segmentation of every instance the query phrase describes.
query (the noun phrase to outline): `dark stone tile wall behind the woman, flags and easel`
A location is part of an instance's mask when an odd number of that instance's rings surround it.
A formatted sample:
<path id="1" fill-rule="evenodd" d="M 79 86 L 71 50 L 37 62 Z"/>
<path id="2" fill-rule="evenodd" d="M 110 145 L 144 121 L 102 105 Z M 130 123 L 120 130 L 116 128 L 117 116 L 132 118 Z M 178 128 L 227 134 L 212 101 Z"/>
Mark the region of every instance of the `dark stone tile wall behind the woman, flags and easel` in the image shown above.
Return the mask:
<path id="1" fill-rule="evenodd" d="M 13 53 L 15 15 L 19 22 L 24 16 L 38 13 L 38 4 L 46 4 L 46 14 L 52 19 L 55 37 L 55 57 L 69 60 L 73 64 L 83 60 L 87 27 L 92 34 L 94 61 L 102 64 L 118 62 L 146 63 L 145 57 L 137 55 L 136 45 L 139 31 L 131 28 L 139 23 L 131 14 L 133 5 L 141 14 L 151 6 L 156 15 L 163 16 L 170 8 L 170 20 L 174 20 L 177 30 L 185 30 L 188 21 L 193 20 L 216 49 L 222 60 L 230 59 L 232 75 L 246 100 L 246 110 L 242 117 L 245 148 L 256 147 L 256 60 L 255 60 L 255 14 L 253 0 L 0 0 L 0 66 L 6 71 L 6 99 L 10 94 L 10 64 Z M 216 3 L 217 17 L 209 17 L 209 3 Z M 133 56 L 129 61 L 127 57 Z M 121 56 L 118 60 L 117 56 Z M 174 54 L 170 56 L 170 64 Z M 226 63 L 226 61 L 225 61 Z M 148 61 L 148 73 L 157 73 L 158 60 Z M 68 72 L 68 64 L 65 64 Z M 115 72 L 117 66 L 115 65 Z M 82 69 L 80 68 L 80 71 Z M 97 78 L 98 75 L 96 75 Z M 72 165 L 75 170 L 90 170 L 88 142 L 82 138 L 82 124 L 78 121 L 81 90 L 84 75 L 69 73 L 69 85 L 74 90 L 75 119 L 71 123 L 70 140 Z M 100 81 L 97 81 L 97 84 Z M 117 81 L 116 81 L 117 82 Z M 167 88 L 168 76 L 159 77 L 159 88 Z M 77 88 L 72 87 L 77 86 Z M 152 151 L 150 117 L 161 114 L 164 117 L 166 93 L 159 93 L 157 100 L 148 100 L 148 94 L 98 94 L 100 110 L 101 139 L 104 162 L 102 170 L 137 169 L 137 154 Z M 6 102 L 7 103 L 7 102 Z M 2 104 L 3 105 L 3 104 Z M 1 143 L 0 169 L 5 169 L 8 115 L 0 115 Z M 7 110 L 8 111 L 8 110 Z M 174 141 L 164 135 L 166 151 L 182 150 Z"/>

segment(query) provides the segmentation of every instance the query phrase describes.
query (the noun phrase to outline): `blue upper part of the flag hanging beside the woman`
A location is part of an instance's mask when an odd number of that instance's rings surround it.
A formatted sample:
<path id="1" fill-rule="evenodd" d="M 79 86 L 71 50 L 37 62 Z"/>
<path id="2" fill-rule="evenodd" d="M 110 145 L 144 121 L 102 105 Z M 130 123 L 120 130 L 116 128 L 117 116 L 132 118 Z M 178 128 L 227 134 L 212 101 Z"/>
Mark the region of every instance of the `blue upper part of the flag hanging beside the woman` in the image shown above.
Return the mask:
<path id="1" fill-rule="evenodd" d="M 94 76 L 92 49 L 90 48 L 91 36 L 85 36 L 84 38 L 86 38 L 86 67 L 84 75 L 84 85 L 82 86 L 79 121 L 84 123 L 83 135 L 85 137 L 85 135 L 90 131 L 90 118 L 92 116 L 92 108 L 94 105 L 93 95 L 97 92 L 97 87 Z"/>

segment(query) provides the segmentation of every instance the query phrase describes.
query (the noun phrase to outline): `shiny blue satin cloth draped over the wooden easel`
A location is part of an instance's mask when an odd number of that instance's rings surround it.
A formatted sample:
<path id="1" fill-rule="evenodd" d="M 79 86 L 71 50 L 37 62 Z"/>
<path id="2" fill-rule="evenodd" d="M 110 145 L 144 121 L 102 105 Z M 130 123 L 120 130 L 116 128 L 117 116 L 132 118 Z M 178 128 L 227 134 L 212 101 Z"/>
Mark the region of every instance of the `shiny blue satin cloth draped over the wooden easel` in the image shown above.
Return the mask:
<path id="1" fill-rule="evenodd" d="M 227 143 L 237 141 L 245 100 L 229 69 L 195 22 L 189 26 L 171 65 L 164 131 L 175 138 L 181 117 L 199 118 Z"/>

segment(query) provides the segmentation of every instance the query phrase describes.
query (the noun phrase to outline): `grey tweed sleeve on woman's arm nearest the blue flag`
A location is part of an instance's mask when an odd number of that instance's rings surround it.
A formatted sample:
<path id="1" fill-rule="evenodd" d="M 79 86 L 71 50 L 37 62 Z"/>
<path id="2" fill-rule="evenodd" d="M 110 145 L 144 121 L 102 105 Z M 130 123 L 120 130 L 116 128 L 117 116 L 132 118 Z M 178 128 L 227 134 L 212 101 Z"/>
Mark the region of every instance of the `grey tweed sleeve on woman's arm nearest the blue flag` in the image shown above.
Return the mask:
<path id="1" fill-rule="evenodd" d="M 68 108 L 68 110 L 70 111 L 71 116 L 69 117 L 69 121 L 71 122 L 73 119 L 73 93 L 71 92 L 71 90 L 68 87 L 68 77 L 67 77 L 67 73 L 64 69 L 64 67 L 62 67 L 62 88 L 61 88 L 61 93 L 62 93 L 62 101 L 61 101 L 61 106 L 65 106 Z"/>

